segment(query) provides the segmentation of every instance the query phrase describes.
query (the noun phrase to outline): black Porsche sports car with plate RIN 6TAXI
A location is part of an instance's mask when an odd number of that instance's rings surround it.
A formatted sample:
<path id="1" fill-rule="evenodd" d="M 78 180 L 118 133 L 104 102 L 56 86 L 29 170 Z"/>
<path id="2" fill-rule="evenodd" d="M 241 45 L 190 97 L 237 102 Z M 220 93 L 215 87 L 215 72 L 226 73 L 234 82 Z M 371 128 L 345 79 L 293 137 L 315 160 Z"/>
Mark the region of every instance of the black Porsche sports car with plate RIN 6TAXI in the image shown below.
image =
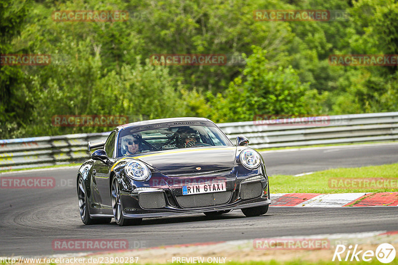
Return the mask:
<path id="1" fill-rule="evenodd" d="M 261 155 L 237 137 L 234 146 L 211 121 L 171 118 L 116 127 L 92 144 L 77 174 L 83 223 L 120 226 L 142 218 L 242 209 L 268 211 L 268 177 Z"/>

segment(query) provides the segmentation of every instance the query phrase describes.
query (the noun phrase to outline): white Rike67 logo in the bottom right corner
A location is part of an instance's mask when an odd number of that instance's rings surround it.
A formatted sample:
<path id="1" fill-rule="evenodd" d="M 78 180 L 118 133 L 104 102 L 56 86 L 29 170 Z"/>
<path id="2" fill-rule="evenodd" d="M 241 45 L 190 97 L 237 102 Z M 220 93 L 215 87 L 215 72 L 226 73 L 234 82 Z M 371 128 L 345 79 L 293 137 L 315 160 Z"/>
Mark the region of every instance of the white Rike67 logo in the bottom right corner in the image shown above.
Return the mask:
<path id="1" fill-rule="evenodd" d="M 342 260 L 359 262 L 362 259 L 364 262 L 370 262 L 376 257 L 381 263 L 391 263 L 394 261 L 395 256 L 396 250 L 394 246 L 388 243 L 380 244 L 376 251 L 358 250 L 358 245 L 355 245 L 354 248 L 352 245 L 348 246 L 348 248 L 344 245 L 337 245 L 332 261 L 334 262 L 337 259 L 339 262 Z"/>

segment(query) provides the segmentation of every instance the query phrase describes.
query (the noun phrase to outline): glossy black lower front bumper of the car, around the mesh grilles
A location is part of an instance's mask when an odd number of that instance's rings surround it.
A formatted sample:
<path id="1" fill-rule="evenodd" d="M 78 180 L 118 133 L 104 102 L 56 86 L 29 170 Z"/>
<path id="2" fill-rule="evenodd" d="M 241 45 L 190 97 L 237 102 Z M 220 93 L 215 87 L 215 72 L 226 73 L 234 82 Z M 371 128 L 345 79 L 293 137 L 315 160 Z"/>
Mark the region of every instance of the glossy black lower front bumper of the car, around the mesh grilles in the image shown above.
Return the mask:
<path id="1" fill-rule="evenodd" d="M 227 182 L 227 187 L 229 188 L 226 192 L 228 192 L 227 196 L 229 196 L 230 193 L 230 197 L 226 200 L 220 199 L 221 193 L 208 193 L 204 196 L 207 199 L 205 202 L 203 202 L 204 204 L 206 202 L 210 202 L 215 203 L 216 205 L 183 205 L 181 203 L 181 199 L 185 199 L 185 201 L 187 200 L 186 198 L 184 198 L 184 196 L 182 196 L 181 188 L 177 190 L 172 190 L 169 188 L 161 189 L 155 187 L 147 187 L 144 189 L 137 189 L 131 193 L 122 191 L 120 194 L 122 214 L 126 218 L 150 218 L 178 214 L 201 213 L 207 211 L 233 210 L 270 204 L 271 200 L 269 198 L 268 178 L 263 176 L 263 178 L 261 179 L 247 181 L 248 179 L 235 179 Z M 253 190 L 255 190 L 256 196 L 254 198 L 250 198 L 250 195 L 248 196 L 247 192 L 245 194 L 243 193 L 243 185 L 249 183 L 257 185 L 256 189 L 253 188 L 255 186 L 247 186 L 248 188 L 250 188 L 250 191 L 253 192 Z M 259 189 L 261 189 L 261 191 L 259 191 Z M 145 197 L 142 195 L 150 196 Z M 203 195 L 200 196 L 202 197 L 191 198 L 194 200 L 203 199 Z M 148 203 L 143 203 L 143 198 L 148 198 Z M 162 200 L 162 198 L 164 198 L 164 201 Z M 212 202 L 212 199 L 214 199 L 214 202 Z M 157 202 L 157 200 L 159 202 Z M 218 200 L 221 203 L 217 204 L 216 201 Z"/>

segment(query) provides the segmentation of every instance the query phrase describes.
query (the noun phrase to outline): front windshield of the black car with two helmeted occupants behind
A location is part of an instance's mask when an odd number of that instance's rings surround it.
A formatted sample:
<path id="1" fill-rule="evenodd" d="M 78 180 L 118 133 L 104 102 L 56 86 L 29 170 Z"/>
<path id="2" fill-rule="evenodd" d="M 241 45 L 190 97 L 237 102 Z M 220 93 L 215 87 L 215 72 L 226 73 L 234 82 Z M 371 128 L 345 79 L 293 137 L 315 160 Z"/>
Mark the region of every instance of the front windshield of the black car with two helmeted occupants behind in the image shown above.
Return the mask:
<path id="1" fill-rule="evenodd" d="M 127 128 L 119 133 L 118 157 L 203 146 L 232 146 L 210 122 L 163 123 Z"/>

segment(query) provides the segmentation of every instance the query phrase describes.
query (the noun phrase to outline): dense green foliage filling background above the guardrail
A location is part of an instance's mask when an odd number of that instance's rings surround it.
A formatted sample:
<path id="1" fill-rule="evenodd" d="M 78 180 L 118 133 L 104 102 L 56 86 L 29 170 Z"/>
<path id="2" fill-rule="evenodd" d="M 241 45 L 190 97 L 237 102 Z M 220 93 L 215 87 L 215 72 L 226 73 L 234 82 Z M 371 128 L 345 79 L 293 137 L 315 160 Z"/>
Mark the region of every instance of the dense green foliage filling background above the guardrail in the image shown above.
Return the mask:
<path id="1" fill-rule="evenodd" d="M 257 9 L 344 10 L 329 22 L 265 22 Z M 125 22 L 55 22 L 54 10 L 128 10 Z M 0 138 L 104 132 L 54 115 L 337 115 L 398 109 L 397 66 L 331 66 L 331 54 L 398 54 L 394 0 L 0 0 Z M 242 55 L 241 66 L 153 66 L 151 54 Z"/>

